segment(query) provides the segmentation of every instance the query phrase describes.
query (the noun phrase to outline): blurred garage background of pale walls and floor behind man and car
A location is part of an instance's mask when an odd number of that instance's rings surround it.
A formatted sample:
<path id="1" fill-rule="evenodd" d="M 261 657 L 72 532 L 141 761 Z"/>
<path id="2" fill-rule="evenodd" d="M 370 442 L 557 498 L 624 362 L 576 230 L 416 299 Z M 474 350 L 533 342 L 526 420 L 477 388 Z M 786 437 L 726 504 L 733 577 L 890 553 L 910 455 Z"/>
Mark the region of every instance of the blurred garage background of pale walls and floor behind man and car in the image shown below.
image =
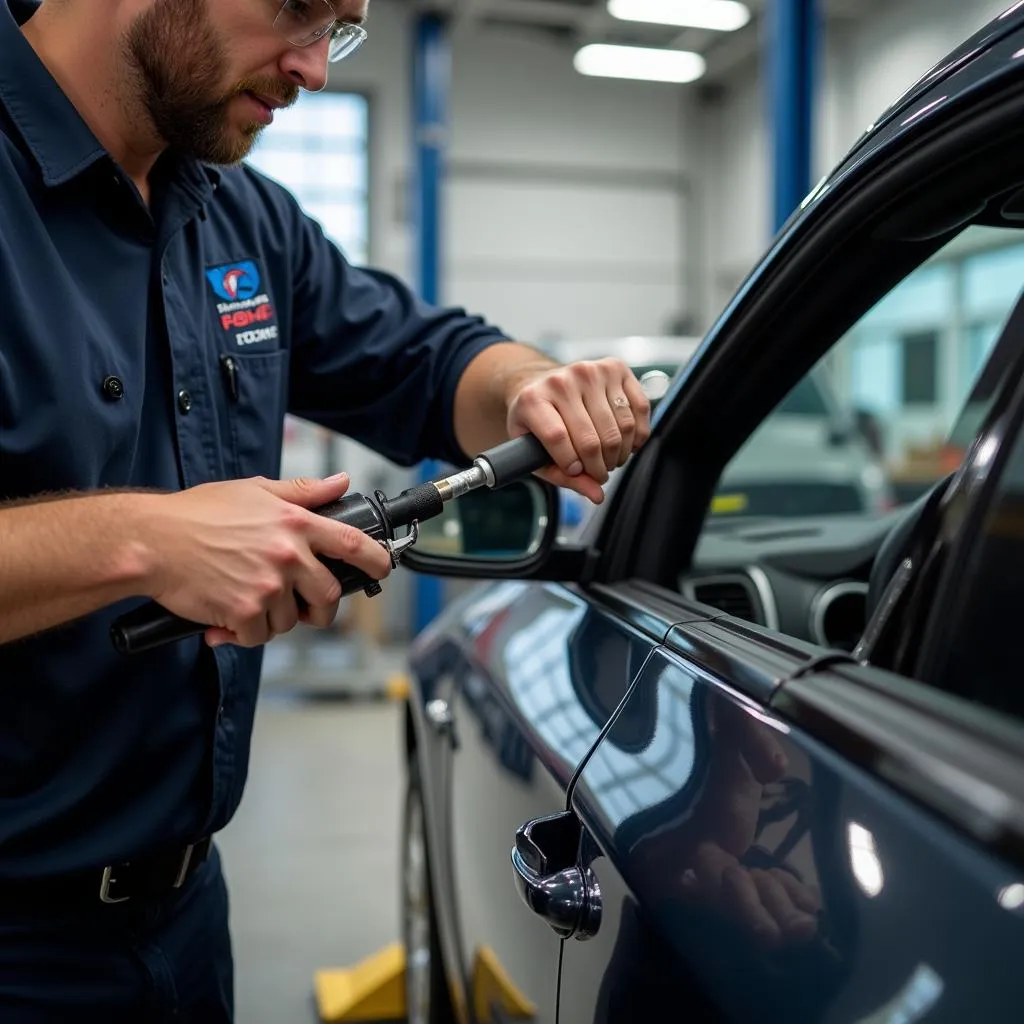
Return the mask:
<path id="1" fill-rule="evenodd" d="M 366 45 L 279 112 L 250 162 L 352 262 L 553 354 L 698 338 L 814 184 L 1008 5 L 680 4 L 739 23 L 711 29 L 626 19 L 608 0 L 370 0 Z M 579 70 L 585 47 L 609 44 L 686 52 L 691 80 Z M 876 389 L 887 457 L 905 467 L 982 349 L 967 366 L 932 324 L 890 333 L 908 347 L 880 334 L 836 372 L 850 393 Z M 437 467 L 401 469 L 289 418 L 282 477 L 340 469 L 391 495 Z M 316 972 L 398 939 L 409 645 L 471 586 L 399 568 L 330 629 L 267 646 L 246 795 L 217 837 L 240 1024 L 314 1024 Z"/>

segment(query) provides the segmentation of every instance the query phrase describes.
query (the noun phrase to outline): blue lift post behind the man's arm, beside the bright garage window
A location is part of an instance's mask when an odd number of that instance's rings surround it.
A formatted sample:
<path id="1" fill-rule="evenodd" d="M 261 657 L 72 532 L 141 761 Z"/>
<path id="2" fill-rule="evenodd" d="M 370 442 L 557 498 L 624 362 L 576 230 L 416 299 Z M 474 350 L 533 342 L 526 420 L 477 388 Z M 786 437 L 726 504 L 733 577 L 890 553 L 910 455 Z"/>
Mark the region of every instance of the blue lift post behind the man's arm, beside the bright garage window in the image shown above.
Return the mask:
<path id="1" fill-rule="evenodd" d="M 427 302 L 441 301 L 441 183 L 449 133 L 449 92 L 452 82 L 452 51 L 444 22 L 436 14 L 424 14 L 416 25 L 413 58 L 413 144 L 416 152 L 415 223 L 417 285 Z M 437 475 L 437 465 L 421 466 L 421 482 Z M 441 609 L 442 581 L 417 574 L 415 578 L 415 630 L 419 633 Z"/>

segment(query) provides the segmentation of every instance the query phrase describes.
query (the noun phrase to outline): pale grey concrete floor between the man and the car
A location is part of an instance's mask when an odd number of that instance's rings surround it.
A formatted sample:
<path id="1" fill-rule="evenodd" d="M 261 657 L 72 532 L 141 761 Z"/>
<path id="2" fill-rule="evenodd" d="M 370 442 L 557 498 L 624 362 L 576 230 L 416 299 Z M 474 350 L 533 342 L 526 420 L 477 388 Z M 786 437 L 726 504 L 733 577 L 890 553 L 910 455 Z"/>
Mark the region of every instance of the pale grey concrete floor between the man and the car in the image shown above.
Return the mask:
<path id="1" fill-rule="evenodd" d="M 400 705 L 301 690 L 264 676 L 246 794 L 218 837 L 238 1024 L 313 1024 L 314 972 L 399 935 Z"/>

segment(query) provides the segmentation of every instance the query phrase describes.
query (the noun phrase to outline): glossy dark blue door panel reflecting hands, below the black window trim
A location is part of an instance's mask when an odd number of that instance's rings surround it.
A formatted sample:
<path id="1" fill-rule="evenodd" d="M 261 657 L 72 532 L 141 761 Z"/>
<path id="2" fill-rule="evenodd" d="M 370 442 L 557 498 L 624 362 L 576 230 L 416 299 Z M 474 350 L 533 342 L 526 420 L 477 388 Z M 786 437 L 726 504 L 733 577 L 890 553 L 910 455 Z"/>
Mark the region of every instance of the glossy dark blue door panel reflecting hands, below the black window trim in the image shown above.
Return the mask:
<path id="1" fill-rule="evenodd" d="M 1021 872 L 675 652 L 636 681 L 572 806 L 604 920 L 566 943 L 563 1024 L 665 1005 L 701 1021 L 1020 1019 L 1024 915 L 999 898 Z"/>

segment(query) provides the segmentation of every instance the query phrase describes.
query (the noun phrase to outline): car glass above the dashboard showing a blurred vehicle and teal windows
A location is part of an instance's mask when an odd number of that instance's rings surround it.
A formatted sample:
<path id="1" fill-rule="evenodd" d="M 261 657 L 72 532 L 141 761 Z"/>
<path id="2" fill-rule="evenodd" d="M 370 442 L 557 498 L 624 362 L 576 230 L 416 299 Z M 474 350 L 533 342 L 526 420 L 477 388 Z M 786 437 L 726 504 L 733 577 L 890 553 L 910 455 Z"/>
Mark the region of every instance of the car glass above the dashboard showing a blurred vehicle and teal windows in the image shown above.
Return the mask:
<path id="1" fill-rule="evenodd" d="M 1022 285 L 1024 233 L 968 228 L 878 302 L 754 432 L 719 480 L 706 529 L 870 516 L 923 495 L 964 457 L 967 399 Z"/>

